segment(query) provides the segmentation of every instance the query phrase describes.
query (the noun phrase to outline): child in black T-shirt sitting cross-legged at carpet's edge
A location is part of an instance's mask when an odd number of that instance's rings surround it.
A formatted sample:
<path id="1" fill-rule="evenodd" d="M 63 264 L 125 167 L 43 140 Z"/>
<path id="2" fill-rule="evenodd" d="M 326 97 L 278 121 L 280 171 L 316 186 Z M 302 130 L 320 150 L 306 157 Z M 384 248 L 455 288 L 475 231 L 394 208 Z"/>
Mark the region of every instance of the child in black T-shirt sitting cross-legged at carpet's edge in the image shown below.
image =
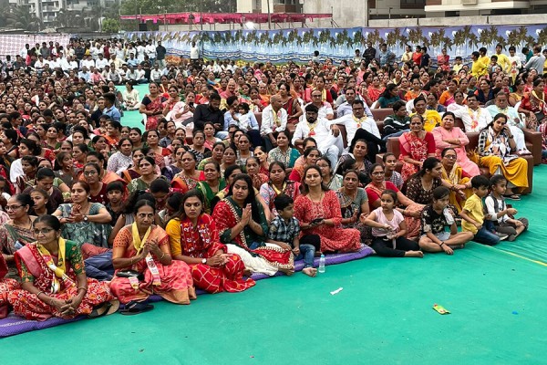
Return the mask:
<path id="1" fill-rule="evenodd" d="M 422 250 L 444 251 L 452 255 L 455 248 L 463 248 L 473 238 L 471 232 L 458 232 L 453 212 L 448 206 L 449 199 L 449 188 L 438 186 L 433 190 L 433 203 L 428 204 L 421 214 L 422 235 L 418 244 Z M 449 232 L 445 230 L 447 226 Z"/>

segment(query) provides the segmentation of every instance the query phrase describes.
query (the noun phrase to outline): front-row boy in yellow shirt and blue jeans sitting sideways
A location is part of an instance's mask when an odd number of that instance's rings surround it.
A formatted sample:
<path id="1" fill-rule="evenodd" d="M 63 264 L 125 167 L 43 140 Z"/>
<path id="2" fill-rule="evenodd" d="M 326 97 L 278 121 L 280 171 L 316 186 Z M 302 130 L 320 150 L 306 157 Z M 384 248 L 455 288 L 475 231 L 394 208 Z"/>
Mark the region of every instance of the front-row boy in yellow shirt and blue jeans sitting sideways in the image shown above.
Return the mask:
<path id="1" fill-rule="evenodd" d="M 459 214 L 462 219 L 461 230 L 463 232 L 471 232 L 474 235 L 473 241 L 475 242 L 484 245 L 498 245 L 501 239 L 507 238 L 507 235 L 498 236 L 492 234 L 483 226 L 485 216 L 482 208 L 482 198 L 488 194 L 489 186 L 490 181 L 482 175 L 471 179 L 473 194 L 466 200 Z M 486 219 L 490 219 L 490 215 L 487 215 Z"/>

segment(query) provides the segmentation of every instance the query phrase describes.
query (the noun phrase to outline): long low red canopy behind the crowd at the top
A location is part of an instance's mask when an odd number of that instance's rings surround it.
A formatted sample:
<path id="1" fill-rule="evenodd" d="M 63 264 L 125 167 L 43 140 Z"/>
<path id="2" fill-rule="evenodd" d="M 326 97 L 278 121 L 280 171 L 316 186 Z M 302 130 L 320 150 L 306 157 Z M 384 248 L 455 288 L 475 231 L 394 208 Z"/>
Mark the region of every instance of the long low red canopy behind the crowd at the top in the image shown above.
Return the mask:
<path id="1" fill-rule="evenodd" d="M 306 20 L 330 18 L 332 14 L 272 13 L 270 16 L 273 23 L 301 23 Z M 264 13 L 169 13 L 120 16 L 119 18 L 134 20 L 135 17 L 141 21 L 151 20 L 154 23 L 163 23 L 165 21 L 169 24 L 268 23 L 268 15 Z"/>

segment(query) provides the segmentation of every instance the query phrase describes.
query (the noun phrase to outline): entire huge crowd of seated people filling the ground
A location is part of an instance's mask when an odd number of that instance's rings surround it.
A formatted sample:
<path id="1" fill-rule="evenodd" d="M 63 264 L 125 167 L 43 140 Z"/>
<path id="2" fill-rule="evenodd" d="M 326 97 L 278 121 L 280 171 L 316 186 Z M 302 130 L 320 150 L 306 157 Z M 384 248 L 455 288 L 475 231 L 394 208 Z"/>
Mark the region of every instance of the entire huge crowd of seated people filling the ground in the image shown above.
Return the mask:
<path id="1" fill-rule="evenodd" d="M 171 65 L 151 41 L 26 47 L 0 81 L 0 317 L 190 304 L 296 260 L 316 276 L 316 255 L 363 245 L 423 257 L 515 240 L 528 220 L 506 199 L 546 150 L 527 143 L 545 141 L 538 62 L 366 55 Z"/>

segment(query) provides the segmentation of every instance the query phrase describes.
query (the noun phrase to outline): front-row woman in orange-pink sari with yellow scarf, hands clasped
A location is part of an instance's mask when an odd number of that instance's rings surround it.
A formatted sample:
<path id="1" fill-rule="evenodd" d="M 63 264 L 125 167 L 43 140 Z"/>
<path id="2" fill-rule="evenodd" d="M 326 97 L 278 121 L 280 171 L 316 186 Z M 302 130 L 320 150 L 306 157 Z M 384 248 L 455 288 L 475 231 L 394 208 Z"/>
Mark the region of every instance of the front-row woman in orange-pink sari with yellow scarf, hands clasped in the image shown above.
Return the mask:
<path id="1" fill-rule="evenodd" d="M 112 250 L 116 276 L 110 288 L 126 304 L 122 314 L 152 309 L 146 303 L 152 294 L 171 303 L 190 304 L 190 299 L 196 298 L 190 267 L 171 258 L 169 236 L 153 224 L 154 204 L 140 200 L 134 214 L 135 222 L 119 231 Z"/>

